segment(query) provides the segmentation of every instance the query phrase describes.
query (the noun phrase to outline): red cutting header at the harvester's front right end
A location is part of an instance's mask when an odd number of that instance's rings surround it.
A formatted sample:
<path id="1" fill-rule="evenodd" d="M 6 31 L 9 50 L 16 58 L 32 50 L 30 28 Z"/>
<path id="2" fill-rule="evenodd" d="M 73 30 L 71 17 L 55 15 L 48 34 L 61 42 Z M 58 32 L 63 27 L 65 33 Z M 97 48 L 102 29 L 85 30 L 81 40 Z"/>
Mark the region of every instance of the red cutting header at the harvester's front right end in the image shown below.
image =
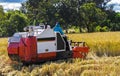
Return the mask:
<path id="1" fill-rule="evenodd" d="M 73 48 L 73 58 L 85 58 L 89 52 L 88 47 L 74 47 Z"/>

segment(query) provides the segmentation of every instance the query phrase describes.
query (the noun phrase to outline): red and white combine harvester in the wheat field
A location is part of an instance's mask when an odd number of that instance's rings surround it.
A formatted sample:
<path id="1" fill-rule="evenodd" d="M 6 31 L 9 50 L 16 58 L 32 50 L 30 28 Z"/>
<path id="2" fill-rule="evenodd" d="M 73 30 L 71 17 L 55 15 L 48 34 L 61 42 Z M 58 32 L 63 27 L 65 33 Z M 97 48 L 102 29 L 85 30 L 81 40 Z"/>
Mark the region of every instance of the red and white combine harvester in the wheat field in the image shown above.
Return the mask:
<path id="1" fill-rule="evenodd" d="M 85 42 L 70 42 L 65 35 L 50 27 L 27 26 L 26 32 L 9 38 L 8 56 L 13 61 L 37 63 L 67 58 L 85 58 L 89 47 Z"/>

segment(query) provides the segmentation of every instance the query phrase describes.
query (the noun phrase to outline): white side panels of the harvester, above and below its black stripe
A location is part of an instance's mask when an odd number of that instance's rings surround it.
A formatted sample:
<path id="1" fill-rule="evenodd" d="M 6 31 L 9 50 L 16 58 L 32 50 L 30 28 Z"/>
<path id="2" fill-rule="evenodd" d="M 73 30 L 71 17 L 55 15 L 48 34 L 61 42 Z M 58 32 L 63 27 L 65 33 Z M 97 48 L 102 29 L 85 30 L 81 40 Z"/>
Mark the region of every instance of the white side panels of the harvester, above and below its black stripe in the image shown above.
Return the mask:
<path id="1" fill-rule="evenodd" d="M 51 28 L 45 29 L 37 35 L 37 39 L 55 38 L 55 32 Z M 41 40 L 37 42 L 37 53 L 48 53 L 56 51 L 56 40 Z"/>

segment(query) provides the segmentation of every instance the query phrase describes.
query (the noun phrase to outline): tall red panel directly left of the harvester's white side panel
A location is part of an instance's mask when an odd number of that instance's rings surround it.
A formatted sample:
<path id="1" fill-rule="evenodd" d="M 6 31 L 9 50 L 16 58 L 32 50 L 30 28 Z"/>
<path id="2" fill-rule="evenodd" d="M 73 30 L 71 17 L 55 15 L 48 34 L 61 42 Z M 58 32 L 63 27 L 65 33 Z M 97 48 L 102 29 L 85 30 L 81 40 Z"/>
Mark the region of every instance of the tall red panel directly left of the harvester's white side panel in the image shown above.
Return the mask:
<path id="1" fill-rule="evenodd" d="M 25 39 L 23 39 L 23 42 L 24 42 L 24 46 L 25 46 L 24 61 L 35 61 L 37 59 L 36 37 L 25 38 Z M 21 54 L 23 54 L 23 52 L 21 52 Z"/>

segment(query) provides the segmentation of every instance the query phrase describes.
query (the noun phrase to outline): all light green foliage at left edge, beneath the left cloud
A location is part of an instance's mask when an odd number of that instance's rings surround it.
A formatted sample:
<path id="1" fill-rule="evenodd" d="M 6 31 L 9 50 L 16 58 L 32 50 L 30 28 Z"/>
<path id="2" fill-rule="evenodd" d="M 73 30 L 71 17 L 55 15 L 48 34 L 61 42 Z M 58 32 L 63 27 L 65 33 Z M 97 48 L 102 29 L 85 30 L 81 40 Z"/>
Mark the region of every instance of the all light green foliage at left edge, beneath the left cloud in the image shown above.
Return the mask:
<path id="1" fill-rule="evenodd" d="M 11 36 L 27 26 L 27 17 L 19 11 L 9 11 L 3 16 L 4 19 L 0 21 L 0 36 Z"/>

